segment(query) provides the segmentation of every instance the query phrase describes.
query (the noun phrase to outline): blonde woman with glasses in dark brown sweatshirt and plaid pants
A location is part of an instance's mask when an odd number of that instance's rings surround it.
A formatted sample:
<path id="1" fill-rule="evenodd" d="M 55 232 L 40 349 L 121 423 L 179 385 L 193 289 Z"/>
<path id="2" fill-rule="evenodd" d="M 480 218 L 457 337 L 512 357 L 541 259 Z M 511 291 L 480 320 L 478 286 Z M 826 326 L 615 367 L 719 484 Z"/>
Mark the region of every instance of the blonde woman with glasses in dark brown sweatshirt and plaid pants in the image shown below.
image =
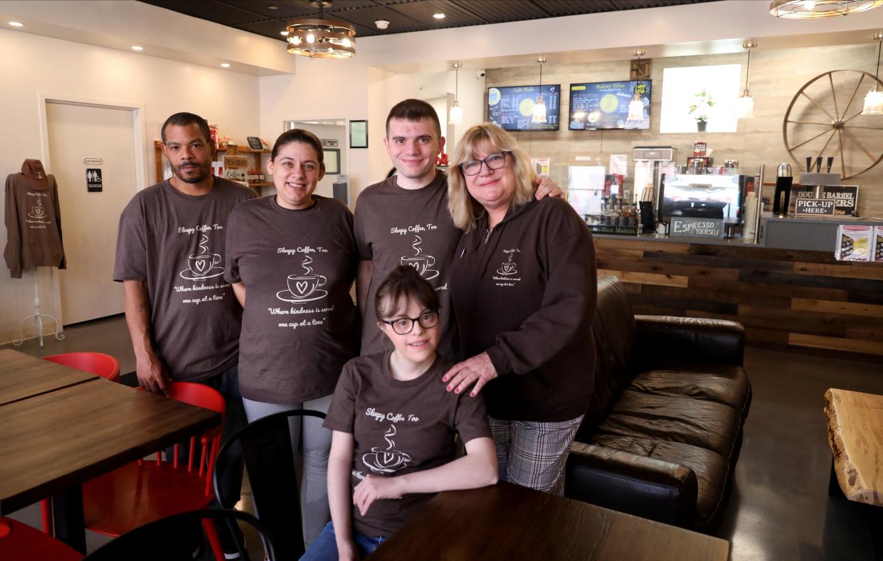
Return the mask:
<path id="1" fill-rule="evenodd" d="M 565 200 L 533 198 L 534 179 L 530 158 L 494 124 L 457 144 L 449 210 L 464 234 L 450 288 L 469 358 L 442 380 L 485 397 L 500 479 L 562 495 L 592 393 L 595 255 Z"/>

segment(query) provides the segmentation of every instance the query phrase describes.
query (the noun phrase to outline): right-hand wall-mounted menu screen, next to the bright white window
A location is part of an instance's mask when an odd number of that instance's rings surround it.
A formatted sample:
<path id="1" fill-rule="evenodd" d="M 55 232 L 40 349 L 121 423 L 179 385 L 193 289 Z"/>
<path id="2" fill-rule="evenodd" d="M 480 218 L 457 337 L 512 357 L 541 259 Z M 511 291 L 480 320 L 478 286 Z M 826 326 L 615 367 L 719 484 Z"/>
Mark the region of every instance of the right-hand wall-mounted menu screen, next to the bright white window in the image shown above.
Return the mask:
<path id="1" fill-rule="evenodd" d="M 644 118 L 629 120 L 629 103 L 635 92 L 644 104 Z M 570 84 L 569 131 L 650 129 L 652 80 L 620 80 Z"/>

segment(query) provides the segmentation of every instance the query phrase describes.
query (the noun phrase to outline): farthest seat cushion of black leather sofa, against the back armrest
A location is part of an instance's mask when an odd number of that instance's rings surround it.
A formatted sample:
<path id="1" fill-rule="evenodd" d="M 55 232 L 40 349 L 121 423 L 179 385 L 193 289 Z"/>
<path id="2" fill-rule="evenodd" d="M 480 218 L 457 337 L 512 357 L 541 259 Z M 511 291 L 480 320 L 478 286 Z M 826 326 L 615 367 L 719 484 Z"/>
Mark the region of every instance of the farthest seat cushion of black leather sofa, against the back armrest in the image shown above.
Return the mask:
<path id="1" fill-rule="evenodd" d="M 649 370 L 632 379 L 630 389 L 669 397 L 689 397 L 728 405 L 747 414 L 751 385 L 741 366 L 684 364 Z"/>

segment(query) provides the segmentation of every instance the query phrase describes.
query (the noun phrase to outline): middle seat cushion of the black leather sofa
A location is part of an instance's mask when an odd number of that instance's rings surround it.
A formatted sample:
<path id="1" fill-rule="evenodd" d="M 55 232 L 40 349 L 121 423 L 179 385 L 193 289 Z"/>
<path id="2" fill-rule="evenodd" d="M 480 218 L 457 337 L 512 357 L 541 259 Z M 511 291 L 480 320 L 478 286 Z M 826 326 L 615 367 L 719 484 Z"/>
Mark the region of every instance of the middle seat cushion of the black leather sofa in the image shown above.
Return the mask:
<path id="1" fill-rule="evenodd" d="M 680 442 L 729 460 L 741 426 L 739 412 L 721 403 L 628 389 L 595 434 Z M 590 442 L 594 441 L 593 436 Z"/>

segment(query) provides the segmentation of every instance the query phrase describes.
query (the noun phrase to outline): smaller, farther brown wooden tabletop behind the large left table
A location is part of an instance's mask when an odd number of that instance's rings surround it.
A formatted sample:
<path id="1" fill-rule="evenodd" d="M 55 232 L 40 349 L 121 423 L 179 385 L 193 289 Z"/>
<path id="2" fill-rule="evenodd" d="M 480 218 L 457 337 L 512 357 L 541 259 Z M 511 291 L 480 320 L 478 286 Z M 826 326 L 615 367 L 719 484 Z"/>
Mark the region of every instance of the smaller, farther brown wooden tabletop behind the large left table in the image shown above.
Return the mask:
<path id="1" fill-rule="evenodd" d="M 96 379 L 94 374 L 16 350 L 0 350 L 0 406 Z"/>

